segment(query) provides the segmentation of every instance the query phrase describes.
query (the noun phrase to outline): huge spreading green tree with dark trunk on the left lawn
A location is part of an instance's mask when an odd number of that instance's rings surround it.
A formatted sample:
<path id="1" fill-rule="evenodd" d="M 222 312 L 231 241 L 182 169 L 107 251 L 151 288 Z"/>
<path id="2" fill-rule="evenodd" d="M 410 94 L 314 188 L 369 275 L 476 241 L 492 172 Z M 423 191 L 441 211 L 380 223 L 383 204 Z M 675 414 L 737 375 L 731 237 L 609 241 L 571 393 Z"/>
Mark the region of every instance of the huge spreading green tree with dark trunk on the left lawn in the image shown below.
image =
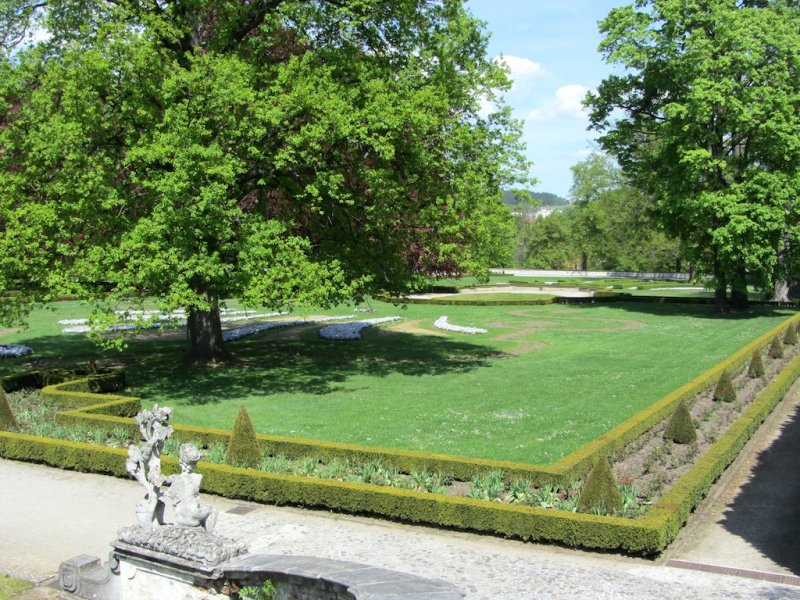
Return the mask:
<path id="1" fill-rule="evenodd" d="M 7 49 L 44 38 L 0 64 L 0 284 L 20 302 L 153 297 L 217 360 L 225 298 L 327 304 L 504 260 L 501 188 L 527 165 L 509 111 L 480 111 L 509 82 L 461 0 L 0 0 L 0 18 Z"/>

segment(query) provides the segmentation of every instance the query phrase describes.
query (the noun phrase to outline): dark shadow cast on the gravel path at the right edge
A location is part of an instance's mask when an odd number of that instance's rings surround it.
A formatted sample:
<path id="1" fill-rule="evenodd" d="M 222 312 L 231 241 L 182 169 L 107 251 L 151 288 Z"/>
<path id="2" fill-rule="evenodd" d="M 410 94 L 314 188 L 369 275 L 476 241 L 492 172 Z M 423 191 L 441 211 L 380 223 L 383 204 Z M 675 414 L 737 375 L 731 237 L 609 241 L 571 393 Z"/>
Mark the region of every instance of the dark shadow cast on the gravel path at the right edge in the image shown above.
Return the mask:
<path id="1" fill-rule="evenodd" d="M 800 407 L 759 453 L 721 525 L 776 564 L 800 575 Z"/>

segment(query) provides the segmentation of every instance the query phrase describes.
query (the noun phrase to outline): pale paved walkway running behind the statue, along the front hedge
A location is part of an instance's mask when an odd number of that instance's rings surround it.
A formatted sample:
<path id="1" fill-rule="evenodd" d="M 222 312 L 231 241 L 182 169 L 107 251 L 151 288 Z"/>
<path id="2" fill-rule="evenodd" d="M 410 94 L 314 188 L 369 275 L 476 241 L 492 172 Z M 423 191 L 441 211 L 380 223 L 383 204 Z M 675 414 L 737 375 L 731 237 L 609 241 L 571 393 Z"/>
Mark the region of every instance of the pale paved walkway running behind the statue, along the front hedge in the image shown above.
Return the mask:
<path id="1" fill-rule="evenodd" d="M 133 520 L 140 487 L 0 460 L 0 571 L 42 581 L 78 554 L 105 557 Z M 218 531 L 251 552 L 322 556 L 435 577 L 470 600 L 497 598 L 797 598 L 800 588 L 385 521 L 206 497 Z"/>

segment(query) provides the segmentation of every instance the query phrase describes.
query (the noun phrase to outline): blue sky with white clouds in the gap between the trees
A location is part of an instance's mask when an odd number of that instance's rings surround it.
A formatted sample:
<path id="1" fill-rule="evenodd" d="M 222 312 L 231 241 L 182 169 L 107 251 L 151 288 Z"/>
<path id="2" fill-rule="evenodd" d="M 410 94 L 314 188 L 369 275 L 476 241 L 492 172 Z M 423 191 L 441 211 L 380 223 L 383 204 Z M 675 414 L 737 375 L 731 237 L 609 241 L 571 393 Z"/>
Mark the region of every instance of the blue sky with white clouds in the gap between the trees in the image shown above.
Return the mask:
<path id="1" fill-rule="evenodd" d="M 527 155 L 536 191 L 567 196 L 570 167 L 592 149 L 594 132 L 580 100 L 612 68 L 597 45 L 597 22 L 625 0 L 468 0 L 486 22 L 489 54 L 503 55 L 514 87 L 506 103 L 525 121 Z"/>

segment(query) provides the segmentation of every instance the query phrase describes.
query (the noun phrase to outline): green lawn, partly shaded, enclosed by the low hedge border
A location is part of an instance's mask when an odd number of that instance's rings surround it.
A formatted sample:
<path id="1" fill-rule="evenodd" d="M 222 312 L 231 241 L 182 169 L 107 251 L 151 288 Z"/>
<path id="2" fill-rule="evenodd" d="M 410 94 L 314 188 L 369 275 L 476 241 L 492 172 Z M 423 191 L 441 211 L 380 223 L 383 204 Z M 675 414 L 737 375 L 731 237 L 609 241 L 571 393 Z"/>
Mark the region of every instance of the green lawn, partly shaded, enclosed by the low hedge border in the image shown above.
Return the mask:
<path id="1" fill-rule="evenodd" d="M 58 319 L 83 314 L 77 303 L 37 312 L 28 331 L 0 343 L 29 343 L 46 363 L 122 362 L 130 393 L 174 407 L 178 423 L 229 428 L 244 405 L 262 433 L 546 464 L 792 314 L 717 317 L 709 306 L 628 303 L 372 305 L 375 313 L 356 317 L 403 319 L 365 330 L 361 341 L 326 341 L 317 328 L 267 332 L 231 343 L 237 362 L 217 369 L 187 367 L 181 335 L 101 355 L 82 336 L 58 333 Z M 489 333 L 444 334 L 432 327 L 442 315 Z M 0 373 L 24 362 L 5 359 Z"/>

